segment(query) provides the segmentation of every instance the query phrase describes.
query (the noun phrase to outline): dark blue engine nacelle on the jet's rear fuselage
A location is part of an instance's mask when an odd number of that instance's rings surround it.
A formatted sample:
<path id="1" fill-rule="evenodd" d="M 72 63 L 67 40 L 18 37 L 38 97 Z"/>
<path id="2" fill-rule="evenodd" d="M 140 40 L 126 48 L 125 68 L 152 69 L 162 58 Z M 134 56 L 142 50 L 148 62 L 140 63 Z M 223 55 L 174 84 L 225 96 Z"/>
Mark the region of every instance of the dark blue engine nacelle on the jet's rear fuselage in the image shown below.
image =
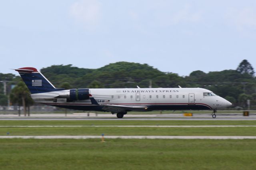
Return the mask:
<path id="1" fill-rule="evenodd" d="M 66 98 L 71 101 L 90 99 L 88 88 L 70 89 L 69 92 L 59 94 L 59 97 Z"/>

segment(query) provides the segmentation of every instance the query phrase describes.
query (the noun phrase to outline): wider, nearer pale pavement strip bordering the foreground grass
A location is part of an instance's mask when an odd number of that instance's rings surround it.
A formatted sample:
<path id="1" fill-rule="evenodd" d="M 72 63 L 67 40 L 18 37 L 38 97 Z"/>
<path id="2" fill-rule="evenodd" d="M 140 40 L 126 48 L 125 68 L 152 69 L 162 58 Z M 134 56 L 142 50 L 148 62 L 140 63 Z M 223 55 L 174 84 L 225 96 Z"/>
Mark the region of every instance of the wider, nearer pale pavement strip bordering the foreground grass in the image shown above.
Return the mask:
<path id="1" fill-rule="evenodd" d="M 100 139 L 102 136 L 0 136 L 0 139 Z M 105 139 L 256 139 L 256 136 L 104 136 Z"/>

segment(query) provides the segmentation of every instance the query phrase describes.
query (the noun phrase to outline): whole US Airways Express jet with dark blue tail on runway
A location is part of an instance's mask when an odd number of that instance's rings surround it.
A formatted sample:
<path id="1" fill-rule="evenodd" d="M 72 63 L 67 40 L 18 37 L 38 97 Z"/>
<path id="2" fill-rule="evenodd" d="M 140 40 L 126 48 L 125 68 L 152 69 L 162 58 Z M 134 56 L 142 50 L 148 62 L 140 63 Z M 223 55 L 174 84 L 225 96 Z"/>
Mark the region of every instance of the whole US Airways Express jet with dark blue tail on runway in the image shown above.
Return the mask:
<path id="1" fill-rule="evenodd" d="M 212 110 L 232 104 L 204 88 L 55 88 L 33 67 L 14 69 L 30 90 L 31 98 L 50 106 L 83 111 L 108 111 L 124 117 L 128 111 Z"/>

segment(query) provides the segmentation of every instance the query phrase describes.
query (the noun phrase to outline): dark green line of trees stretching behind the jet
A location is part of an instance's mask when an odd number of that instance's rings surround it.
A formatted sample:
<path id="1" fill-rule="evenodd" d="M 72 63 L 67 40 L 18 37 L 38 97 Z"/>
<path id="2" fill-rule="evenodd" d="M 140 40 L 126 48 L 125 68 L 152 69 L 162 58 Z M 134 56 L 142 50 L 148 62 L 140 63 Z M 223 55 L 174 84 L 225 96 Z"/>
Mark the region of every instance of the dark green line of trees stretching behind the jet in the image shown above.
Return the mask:
<path id="1" fill-rule="evenodd" d="M 251 108 L 256 108 L 256 77 L 254 68 L 243 60 L 236 70 L 222 70 L 205 73 L 196 70 L 189 76 L 179 76 L 173 72 L 161 72 L 148 64 L 117 62 L 98 69 L 78 68 L 68 65 L 52 65 L 40 70 L 42 74 L 58 88 L 206 88 L 232 102 L 234 106 L 246 107 L 246 100 L 251 100 Z M 20 76 L 0 73 L 0 81 L 6 80 L 7 93 L 12 104 L 22 104 L 29 98 L 28 89 Z M 22 84 L 23 83 L 23 84 Z M 11 90 L 12 85 L 17 85 Z M 23 90 L 17 90 L 23 86 Z M 24 94 L 21 94 L 25 92 Z M 19 96 L 19 97 L 18 97 Z M 7 104 L 8 97 L 3 94 L 0 83 L 0 105 Z M 18 98 L 18 99 L 17 99 Z M 26 102 L 26 101 L 25 101 Z M 27 105 L 32 102 L 27 100 Z"/>

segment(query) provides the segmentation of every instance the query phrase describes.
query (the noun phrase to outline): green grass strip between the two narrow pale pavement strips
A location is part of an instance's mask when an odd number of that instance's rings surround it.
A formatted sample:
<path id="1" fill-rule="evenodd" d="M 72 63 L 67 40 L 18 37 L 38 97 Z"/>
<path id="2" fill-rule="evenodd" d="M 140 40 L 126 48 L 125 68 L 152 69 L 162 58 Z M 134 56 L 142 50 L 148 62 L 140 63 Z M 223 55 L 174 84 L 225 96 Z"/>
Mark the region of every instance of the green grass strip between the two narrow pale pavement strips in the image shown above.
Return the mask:
<path id="1" fill-rule="evenodd" d="M 0 135 L 256 136 L 256 127 L 1 127 Z"/>

